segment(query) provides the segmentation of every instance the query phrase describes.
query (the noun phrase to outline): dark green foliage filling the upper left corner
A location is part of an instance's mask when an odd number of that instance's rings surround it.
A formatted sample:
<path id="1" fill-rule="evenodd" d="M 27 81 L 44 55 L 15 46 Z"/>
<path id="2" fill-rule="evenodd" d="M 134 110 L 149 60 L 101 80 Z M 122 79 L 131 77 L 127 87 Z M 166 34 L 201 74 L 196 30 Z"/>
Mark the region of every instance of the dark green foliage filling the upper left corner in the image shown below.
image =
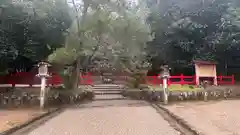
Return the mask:
<path id="1" fill-rule="evenodd" d="M 19 56 L 45 59 L 62 47 L 71 18 L 62 0 L 0 3 L 0 59 L 7 64 Z M 57 40 L 56 40 L 57 39 Z M 7 65 L 6 65 L 7 66 Z"/>

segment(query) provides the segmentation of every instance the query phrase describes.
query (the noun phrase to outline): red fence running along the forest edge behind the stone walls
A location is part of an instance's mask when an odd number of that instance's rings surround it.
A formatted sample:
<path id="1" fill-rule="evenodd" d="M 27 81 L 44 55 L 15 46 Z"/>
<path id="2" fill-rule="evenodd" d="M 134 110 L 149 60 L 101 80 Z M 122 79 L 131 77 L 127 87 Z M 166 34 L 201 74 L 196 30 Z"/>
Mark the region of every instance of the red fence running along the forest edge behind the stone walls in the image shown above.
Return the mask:
<path id="1" fill-rule="evenodd" d="M 95 76 L 92 76 L 90 73 L 85 73 L 80 76 L 80 84 L 86 85 L 86 84 L 93 84 Z M 116 76 L 117 81 L 126 81 L 126 76 Z M 217 81 L 219 85 L 226 85 L 226 84 L 234 84 L 235 79 L 234 75 L 232 76 L 217 76 Z M 36 77 L 36 73 L 34 72 L 18 72 L 15 74 L 8 74 L 8 75 L 2 75 L 0 76 L 0 84 L 8 84 L 8 85 L 39 85 L 40 84 L 40 78 Z M 51 77 L 48 78 L 49 85 L 59 85 L 63 83 L 63 80 L 61 76 L 57 73 L 51 73 Z M 152 85 L 159 85 L 162 84 L 162 79 L 159 79 L 157 76 L 147 76 L 145 77 L 145 83 L 152 84 Z M 168 85 L 171 84 L 191 84 L 196 85 L 196 77 L 195 76 L 184 76 L 183 74 L 179 76 L 171 76 L 168 79 Z"/>

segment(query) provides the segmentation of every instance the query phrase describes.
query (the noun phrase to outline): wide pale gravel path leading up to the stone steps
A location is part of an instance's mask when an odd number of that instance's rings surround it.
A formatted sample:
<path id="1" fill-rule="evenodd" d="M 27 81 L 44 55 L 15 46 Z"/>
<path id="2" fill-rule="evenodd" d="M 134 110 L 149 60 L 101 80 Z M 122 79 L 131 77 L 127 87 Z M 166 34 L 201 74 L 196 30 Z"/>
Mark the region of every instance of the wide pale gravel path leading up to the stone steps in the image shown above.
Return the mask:
<path id="1" fill-rule="evenodd" d="M 94 101 L 68 109 L 28 133 L 28 135 L 178 134 L 179 132 L 146 102 L 127 100 Z"/>

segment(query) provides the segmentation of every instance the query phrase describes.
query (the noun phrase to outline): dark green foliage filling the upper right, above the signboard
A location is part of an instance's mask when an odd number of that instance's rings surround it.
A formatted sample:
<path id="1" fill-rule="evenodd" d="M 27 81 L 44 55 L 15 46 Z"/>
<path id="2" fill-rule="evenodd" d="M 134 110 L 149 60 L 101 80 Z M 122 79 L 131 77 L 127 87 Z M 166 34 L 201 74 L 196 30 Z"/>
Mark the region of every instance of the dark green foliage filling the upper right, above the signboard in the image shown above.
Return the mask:
<path id="1" fill-rule="evenodd" d="M 222 62 L 240 47 L 237 0 L 147 3 L 148 23 L 155 34 L 148 46 L 150 60 L 173 66 L 189 65 L 193 59 Z"/>

